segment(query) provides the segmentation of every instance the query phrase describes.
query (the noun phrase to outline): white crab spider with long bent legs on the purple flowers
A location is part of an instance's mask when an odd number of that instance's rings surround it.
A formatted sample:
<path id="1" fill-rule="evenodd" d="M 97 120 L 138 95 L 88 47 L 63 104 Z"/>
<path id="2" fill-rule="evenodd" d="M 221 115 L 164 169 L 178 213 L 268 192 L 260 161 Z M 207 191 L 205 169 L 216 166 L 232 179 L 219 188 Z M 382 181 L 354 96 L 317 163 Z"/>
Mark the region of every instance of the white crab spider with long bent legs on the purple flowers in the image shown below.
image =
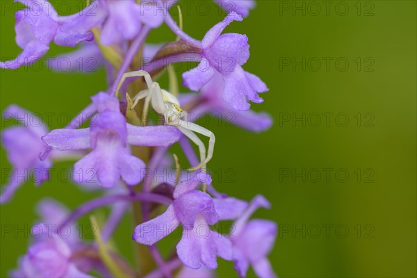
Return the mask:
<path id="1" fill-rule="evenodd" d="M 195 143 L 195 145 L 198 146 L 201 162 L 196 167 L 191 168 L 190 171 L 195 171 L 199 168 L 203 168 L 203 170 L 205 170 L 205 165 L 213 157 L 215 142 L 214 133 L 209 131 L 208 129 L 205 129 L 202 126 L 199 126 L 198 124 L 188 122 L 187 120 L 183 120 L 183 118 L 186 117 L 187 113 L 186 111 L 183 111 L 180 108 L 179 100 L 177 99 L 177 97 L 174 97 L 174 95 L 170 94 L 170 92 L 161 89 L 159 83 L 152 81 L 149 73 L 145 72 L 144 70 L 126 72 L 125 74 L 123 74 L 119 85 L 117 85 L 116 92 L 119 91 L 122 83 L 126 78 L 136 76 L 145 77 L 148 89 L 138 92 L 138 94 L 135 97 L 133 97 L 133 106 L 131 107 L 131 109 L 133 109 L 138 104 L 140 99 L 145 98 L 145 105 L 143 108 L 144 115 L 147 115 L 149 111 L 149 104 L 152 104 L 152 108 L 154 108 L 154 111 L 156 111 L 156 113 L 160 115 L 163 115 L 165 119 L 165 124 L 176 126 L 179 129 L 179 131 L 181 131 L 185 136 L 190 138 L 190 140 L 192 140 Z M 195 135 L 194 132 L 200 133 L 209 138 L 207 156 L 206 146 L 204 145 L 202 140 L 200 140 L 198 136 Z"/>

